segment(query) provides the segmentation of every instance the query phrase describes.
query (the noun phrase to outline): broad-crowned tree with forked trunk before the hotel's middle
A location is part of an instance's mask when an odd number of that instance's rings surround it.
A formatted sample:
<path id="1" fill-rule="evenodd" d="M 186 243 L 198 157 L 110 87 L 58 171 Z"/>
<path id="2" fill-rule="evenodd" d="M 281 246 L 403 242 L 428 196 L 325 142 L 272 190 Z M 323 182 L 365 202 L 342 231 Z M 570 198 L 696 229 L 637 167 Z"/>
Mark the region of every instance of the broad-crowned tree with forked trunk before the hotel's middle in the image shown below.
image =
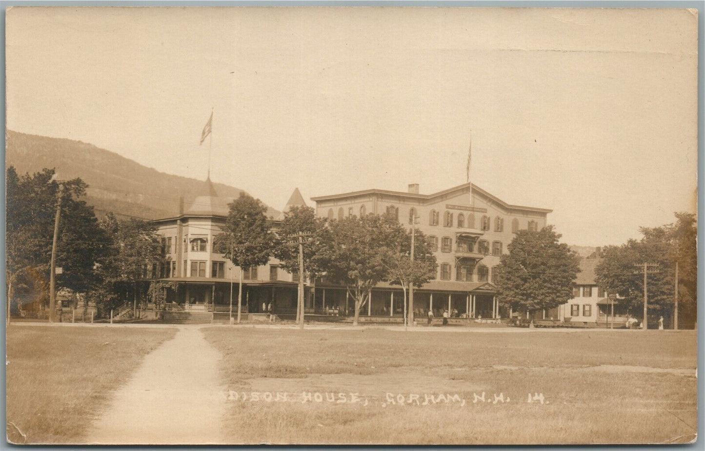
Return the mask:
<path id="1" fill-rule="evenodd" d="M 403 249 L 406 230 L 389 215 L 368 214 L 329 221 L 324 235 L 324 253 L 319 257 L 326 278 L 345 285 L 355 302 L 357 326 L 360 309 L 370 302 L 372 288 L 389 277 L 385 257 L 392 249 Z"/>

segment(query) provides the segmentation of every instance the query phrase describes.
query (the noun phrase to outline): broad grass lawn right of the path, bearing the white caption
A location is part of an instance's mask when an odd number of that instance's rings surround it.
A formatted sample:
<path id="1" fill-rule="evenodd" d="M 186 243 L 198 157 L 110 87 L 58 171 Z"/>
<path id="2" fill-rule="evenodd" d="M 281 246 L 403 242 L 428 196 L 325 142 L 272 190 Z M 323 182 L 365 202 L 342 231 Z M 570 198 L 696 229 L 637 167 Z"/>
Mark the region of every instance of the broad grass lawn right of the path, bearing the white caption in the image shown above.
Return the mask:
<path id="1" fill-rule="evenodd" d="M 223 353 L 231 443 L 686 443 L 696 432 L 694 331 L 204 333 Z"/>

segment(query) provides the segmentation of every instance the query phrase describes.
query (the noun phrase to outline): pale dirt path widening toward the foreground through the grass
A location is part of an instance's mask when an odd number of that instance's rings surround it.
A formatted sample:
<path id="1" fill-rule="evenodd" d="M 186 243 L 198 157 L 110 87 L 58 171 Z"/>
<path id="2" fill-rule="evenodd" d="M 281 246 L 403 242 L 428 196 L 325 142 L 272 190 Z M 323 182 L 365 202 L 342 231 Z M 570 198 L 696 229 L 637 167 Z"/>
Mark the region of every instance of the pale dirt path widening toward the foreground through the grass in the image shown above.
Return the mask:
<path id="1" fill-rule="evenodd" d="M 226 400 L 218 377 L 220 358 L 200 327 L 181 326 L 117 390 L 87 434 L 91 443 L 223 443 Z"/>

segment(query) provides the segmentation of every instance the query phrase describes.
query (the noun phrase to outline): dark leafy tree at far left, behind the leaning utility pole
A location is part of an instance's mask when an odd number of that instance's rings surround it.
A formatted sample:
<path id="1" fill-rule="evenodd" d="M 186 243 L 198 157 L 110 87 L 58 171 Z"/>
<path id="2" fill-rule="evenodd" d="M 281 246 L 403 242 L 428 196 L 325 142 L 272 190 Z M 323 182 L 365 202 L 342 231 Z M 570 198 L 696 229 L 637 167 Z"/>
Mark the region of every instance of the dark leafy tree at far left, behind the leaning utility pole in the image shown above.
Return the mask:
<path id="1" fill-rule="evenodd" d="M 12 284 L 24 271 L 34 268 L 49 280 L 54 215 L 59 183 L 52 180 L 54 169 L 19 176 L 7 169 L 6 187 L 6 274 L 8 299 Z M 99 282 L 95 263 L 109 247 L 109 237 L 99 227 L 93 209 L 80 200 L 87 185 L 75 178 L 62 182 L 61 223 L 57 243 L 57 288 L 85 291 Z"/>

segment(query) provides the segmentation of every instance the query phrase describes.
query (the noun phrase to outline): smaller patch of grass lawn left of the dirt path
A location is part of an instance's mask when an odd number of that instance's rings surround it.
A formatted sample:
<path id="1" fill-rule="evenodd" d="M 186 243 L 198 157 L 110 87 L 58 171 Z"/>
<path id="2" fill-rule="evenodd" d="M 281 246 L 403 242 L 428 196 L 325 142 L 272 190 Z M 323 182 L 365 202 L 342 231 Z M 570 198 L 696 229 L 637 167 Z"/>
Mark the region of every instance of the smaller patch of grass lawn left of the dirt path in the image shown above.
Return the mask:
<path id="1" fill-rule="evenodd" d="M 8 439 L 81 441 L 111 390 L 175 333 L 166 327 L 9 326 Z"/>

